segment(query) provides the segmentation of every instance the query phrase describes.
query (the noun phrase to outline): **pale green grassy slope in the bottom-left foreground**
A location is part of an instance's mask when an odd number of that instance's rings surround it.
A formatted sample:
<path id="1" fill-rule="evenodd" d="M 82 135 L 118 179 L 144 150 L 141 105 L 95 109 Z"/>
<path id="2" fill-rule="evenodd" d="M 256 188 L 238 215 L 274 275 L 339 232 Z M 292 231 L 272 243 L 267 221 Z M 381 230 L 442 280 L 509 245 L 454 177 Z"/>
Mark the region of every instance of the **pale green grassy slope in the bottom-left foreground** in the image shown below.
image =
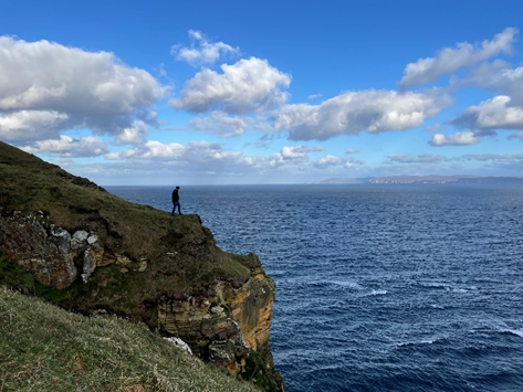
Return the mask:
<path id="1" fill-rule="evenodd" d="M 0 391 L 260 391 L 144 325 L 90 319 L 0 287 Z"/>

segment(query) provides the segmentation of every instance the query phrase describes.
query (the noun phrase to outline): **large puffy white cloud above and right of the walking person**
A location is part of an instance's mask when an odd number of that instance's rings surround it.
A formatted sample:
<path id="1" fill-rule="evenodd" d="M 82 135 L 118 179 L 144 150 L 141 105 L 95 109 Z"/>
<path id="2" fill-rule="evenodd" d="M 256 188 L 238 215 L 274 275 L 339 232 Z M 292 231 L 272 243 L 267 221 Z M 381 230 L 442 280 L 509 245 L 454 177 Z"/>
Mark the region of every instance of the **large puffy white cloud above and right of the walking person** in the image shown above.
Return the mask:
<path id="1" fill-rule="evenodd" d="M 221 65 L 222 73 L 203 68 L 187 81 L 178 99 L 170 105 L 191 113 L 221 110 L 229 115 L 263 112 L 284 103 L 291 76 L 271 66 L 266 60 L 242 59 Z"/>

